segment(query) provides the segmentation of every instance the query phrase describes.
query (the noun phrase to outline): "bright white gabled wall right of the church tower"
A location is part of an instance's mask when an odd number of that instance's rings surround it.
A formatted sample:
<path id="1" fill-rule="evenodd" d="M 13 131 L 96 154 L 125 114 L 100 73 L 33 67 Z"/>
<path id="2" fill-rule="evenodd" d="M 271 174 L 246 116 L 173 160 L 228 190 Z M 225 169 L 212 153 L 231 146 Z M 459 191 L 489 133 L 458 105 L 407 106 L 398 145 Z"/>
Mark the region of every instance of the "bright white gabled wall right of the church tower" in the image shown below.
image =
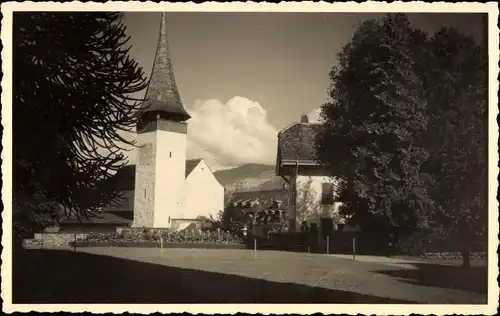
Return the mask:
<path id="1" fill-rule="evenodd" d="M 217 181 L 205 161 L 200 161 L 186 179 L 186 214 L 184 218 L 198 216 L 217 217 L 224 209 L 224 187 Z"/>

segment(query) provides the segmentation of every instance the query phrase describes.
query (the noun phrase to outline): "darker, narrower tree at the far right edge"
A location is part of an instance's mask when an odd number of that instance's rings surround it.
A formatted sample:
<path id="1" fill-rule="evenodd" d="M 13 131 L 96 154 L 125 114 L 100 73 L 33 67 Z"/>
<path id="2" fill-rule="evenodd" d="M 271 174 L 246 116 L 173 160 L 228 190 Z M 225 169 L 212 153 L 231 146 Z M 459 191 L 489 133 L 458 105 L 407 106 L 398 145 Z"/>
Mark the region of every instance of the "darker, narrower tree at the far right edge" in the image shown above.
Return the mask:
<path id="1" fill-rule="evenodd" d="M 425 91 L 429 128 L 423 139 L 431 153 L 434 221 L 439 239 L 462 252 L 486 246 L 488 177 L 487 47 L 454 29 L 429 40 Z"/>

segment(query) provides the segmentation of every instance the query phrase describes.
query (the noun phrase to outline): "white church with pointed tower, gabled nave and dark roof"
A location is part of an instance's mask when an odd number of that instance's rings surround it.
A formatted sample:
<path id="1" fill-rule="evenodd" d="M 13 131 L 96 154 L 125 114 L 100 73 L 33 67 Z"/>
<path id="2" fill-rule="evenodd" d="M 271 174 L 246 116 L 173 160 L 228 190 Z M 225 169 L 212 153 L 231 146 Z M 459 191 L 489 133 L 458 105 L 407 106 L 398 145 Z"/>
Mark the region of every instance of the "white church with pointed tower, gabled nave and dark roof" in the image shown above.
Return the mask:
<path id="1" fill-rule="evenodd" d="M 103 208 L 89 223 L 69 219 L 61 224 L 182 228 L 224 209 L 224 187 L 205 161 L 186 158 L 190 115 L 175 83 L 163 12 L 144 99 L 136 129 L 136 164 L 123 167 L 112 181 L 125 200 Z"/>

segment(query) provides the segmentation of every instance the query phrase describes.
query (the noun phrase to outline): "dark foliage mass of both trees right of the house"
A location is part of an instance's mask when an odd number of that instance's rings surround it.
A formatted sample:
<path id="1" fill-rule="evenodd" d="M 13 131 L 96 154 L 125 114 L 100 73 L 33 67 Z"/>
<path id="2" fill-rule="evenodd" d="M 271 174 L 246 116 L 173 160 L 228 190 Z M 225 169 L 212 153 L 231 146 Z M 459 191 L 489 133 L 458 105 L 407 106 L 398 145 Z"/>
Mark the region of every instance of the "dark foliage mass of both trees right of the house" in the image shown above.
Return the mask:
<path id="1" fill-rule="evenodd" d="M 343 48 L 317 159 L 342 179 L 342 212 L 362 229 L 398 242 L 484 222 L 485 51 L 452 29 L 428 37 L 404 14 L 362 23 Z"/>

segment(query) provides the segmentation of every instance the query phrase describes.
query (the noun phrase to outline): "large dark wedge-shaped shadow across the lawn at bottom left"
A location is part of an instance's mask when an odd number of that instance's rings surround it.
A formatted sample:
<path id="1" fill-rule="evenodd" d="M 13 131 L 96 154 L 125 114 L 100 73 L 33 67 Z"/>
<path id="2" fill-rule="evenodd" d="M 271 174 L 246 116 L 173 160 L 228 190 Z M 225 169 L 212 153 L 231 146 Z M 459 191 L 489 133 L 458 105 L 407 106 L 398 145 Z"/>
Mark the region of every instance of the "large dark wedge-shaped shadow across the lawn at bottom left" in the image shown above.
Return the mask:
<path id="1" fill-rule="evenodd" d="M 14 303 L 412 303 L 63 250 L 13 258 Z"/>

